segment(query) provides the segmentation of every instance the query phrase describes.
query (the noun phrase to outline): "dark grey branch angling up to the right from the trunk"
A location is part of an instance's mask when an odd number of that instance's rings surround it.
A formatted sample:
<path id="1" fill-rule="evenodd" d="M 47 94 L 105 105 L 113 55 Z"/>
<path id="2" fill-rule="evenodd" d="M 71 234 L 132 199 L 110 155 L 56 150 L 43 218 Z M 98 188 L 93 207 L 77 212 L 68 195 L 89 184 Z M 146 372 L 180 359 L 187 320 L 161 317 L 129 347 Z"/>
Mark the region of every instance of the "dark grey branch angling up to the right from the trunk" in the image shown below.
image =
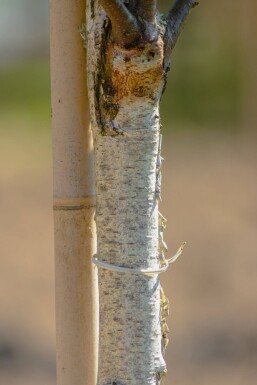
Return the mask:
<path id="1" fill-rule="evenodd" d="M 199 3 L 196 0 L 176 0 L 169 11 L 166 44 L 168 45 L 170 52 L 178 40 L 189 12 L 198 4 Z"/>

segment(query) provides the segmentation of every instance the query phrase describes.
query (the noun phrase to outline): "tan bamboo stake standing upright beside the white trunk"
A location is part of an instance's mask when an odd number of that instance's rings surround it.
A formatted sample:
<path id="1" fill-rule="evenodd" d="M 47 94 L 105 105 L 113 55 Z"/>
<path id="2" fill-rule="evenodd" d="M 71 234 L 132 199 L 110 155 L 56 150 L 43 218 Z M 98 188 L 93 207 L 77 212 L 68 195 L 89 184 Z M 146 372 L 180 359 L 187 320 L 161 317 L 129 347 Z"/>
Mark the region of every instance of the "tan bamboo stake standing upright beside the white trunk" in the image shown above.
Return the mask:
<path id="1" fill-rule="evenodd" d="M 95 191 L 82 0 L 50 0 L 57 384 L 97 375 Z"/>

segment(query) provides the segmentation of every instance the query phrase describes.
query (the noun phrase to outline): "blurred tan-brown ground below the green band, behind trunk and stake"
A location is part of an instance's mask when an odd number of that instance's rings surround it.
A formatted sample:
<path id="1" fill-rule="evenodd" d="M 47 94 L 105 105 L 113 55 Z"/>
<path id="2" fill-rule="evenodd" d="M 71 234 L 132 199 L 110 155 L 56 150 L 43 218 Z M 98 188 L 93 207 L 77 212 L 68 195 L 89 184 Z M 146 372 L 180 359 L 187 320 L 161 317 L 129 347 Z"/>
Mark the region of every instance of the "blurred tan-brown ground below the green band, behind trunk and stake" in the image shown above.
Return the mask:
<path id="1" fill-rule="evenodd" d="M 257 140 L 164 135 L 162 213 L 170 256 L 164 384 L 257 383 Z M 51 141 L 0 143 L 0 384 L 55 384 Z"/>

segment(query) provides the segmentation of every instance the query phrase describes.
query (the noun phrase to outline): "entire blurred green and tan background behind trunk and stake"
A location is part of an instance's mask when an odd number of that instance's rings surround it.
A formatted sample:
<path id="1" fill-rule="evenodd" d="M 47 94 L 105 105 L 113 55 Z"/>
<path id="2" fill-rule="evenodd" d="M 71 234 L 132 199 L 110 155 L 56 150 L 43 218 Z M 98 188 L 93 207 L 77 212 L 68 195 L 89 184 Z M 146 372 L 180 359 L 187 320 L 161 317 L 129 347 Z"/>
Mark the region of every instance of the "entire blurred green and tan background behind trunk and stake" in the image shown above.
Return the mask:
<path id="1" fill-rule="evenodd" d="M 168 1 L 159 1 L 162 10 Z M 202 0 L 162 102 L 164 384 L 257 383 L 255 0 Z M 55 384 L 47 0 L 0 0 L 0 383 Z"/>

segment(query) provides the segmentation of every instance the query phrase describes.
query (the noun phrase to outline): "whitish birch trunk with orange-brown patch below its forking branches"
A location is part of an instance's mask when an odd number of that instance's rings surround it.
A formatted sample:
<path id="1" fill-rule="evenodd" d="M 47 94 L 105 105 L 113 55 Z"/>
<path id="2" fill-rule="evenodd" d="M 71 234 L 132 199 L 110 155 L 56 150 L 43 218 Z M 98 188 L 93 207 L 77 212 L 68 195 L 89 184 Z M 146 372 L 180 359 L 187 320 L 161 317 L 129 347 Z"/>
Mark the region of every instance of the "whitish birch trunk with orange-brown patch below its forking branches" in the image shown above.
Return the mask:
<path id="1" fill-rule="evenodd" d="M 94 134 L 98 259 L 163 264 L 159 103 L 170 52 L 193 0 L 168 15 L 156 0 L 87 1 L 88 86 Z M 99 269 L 98 385 L 154 385 L 166 372 L 168 301 L 157 274 Z"/>

